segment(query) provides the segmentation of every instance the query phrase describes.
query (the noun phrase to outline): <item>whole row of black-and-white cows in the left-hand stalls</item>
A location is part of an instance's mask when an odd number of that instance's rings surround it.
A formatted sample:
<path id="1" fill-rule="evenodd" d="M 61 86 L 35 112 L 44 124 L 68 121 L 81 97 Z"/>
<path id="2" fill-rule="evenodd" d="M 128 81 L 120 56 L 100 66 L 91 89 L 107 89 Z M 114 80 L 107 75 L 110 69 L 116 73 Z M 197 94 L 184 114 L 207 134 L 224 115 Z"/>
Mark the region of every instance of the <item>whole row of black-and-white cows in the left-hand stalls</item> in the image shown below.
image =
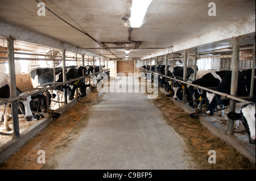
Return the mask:
<path id="1" fill-rule="evenodd" d="M 104 68 L 104 66 L 102 66 Z M 92 83 L 86 84 L 82 77 L 82 71 L 85 71 L 85 76 L 90 76 Z M 93 69 L 95 73 L 93 74 Z M 80 66 L 78 69 L 76 66 L 67 66 L 66 67 L 66 77 L 67 81 L 72 81 L 72 79 L 78 80 L 67 83 L 66 85 L 56 86 L 53 90 L 53 94 L 49 94 L 48 101 L 51 105 L 52 98 L 57 98 L 57 102 L 63 100 L 64 89 L 67 89 L 68 99 L 73 100 L 76 90 L 80 97 L 86 96 L 86 87 L 94 88 L 96 83 L 99 82 L 102 77 L 109 76 L 109 70 L 101 71 L 100 73 L 99 66 Z M 53 68 L 36 68 L 30 71 L 31 82 L 34 88 L 36 87 L 48 87 L 54 85 L 54 77 L 56 83 L 63 82 L 63 68 L 55 68 L 55 75 L 53 74 Z M 47 84 L 45 85 L 44 84 Z M 43 85 L 43 86 L 42 86 Z M 47 90 L 48 91 L 48 90 Z M 26 92 L 22 92 L 18 87 L 16 87 L 17 96 L 24 96 Z M 5 73 L 0 73 L 0 98 L 10 98 L 10 86 L 9 86 L 9 77 Z M 26 121 L 39 120 L 40 117 L 44 117 L 43 113 L 46 113 L 47 110 L 47 100 L 46 100 L 46 91 L 40 92 L 38 94 L 27 96 L 24 101 L 18 102 L 18 113 L 24 115 Z M 54 112 L 51 112 L 53 116 Z M 11 115 L 11 104 L 6 103 L 0 105 L 0 121 L 1 126 L 3 122 L 3 127 L 6 131 L 11 131 L 7 120 Z"/>

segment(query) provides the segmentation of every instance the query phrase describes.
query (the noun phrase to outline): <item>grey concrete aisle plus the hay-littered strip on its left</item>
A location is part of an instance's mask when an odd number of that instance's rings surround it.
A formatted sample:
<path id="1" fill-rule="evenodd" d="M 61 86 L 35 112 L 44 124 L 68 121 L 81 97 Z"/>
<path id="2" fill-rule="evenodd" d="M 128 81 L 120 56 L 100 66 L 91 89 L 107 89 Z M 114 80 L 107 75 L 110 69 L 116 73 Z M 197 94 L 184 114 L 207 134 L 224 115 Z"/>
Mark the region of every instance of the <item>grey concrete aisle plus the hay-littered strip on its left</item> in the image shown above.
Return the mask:
<path id="1" fill-rule="evenodd" d="M 53 121 L 1 169 L 195 169 L 183 138 L 146 94 L 106 92 L 93 104 L 97 95 Z M 38 149 L 46 151 L 45 164 L 36 163 Z"/>

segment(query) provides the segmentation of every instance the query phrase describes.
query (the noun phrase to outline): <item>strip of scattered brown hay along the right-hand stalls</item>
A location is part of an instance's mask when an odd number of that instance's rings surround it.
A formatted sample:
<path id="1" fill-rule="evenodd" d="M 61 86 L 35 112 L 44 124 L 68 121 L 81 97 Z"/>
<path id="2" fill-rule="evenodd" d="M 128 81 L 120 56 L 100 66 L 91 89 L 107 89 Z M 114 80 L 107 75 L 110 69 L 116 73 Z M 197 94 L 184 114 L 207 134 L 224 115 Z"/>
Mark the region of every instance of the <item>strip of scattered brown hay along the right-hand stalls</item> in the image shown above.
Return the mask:
<path id="1" fill-rule="evenodd" d="M 200 124 L 199 119 L 191 119 L 163 92 L 159 91 L 158 98 L 151 101 L 163 111 L 167 123 L 183 136 L 187 153 L 201 169 L 255 169 L 246 157 L 210 133 Z M 216 151 L 215 164 L 208 163 L 209 150 Z"/>

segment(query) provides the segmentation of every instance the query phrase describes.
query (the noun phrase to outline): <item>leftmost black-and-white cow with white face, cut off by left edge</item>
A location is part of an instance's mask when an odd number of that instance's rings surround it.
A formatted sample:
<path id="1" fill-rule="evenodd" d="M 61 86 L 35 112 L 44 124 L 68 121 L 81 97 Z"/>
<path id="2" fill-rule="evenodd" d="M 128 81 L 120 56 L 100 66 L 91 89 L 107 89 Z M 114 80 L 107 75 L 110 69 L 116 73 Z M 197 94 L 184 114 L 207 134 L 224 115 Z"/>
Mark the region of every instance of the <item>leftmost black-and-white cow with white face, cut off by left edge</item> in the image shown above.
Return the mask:
<path id="1" fill-rule="evenodd" d="M 18 87 L 16 87 L 16 94 L 17 96 L 22 96 L 25 93 L 22 93 L 22 91 L 20 91 Z M 10 98 L 9 77 L 5 73 L 0 73 L 0 98 Z M 32 100 L 31 96 L 27 96 L 26 100 L 19 102 L 20 111 L 23 113 L 24 119 L 26 121 L 32 121 L 34 118 L 30 108 L 31 100 Z M 0 106 L 0 111 L 3 113 L 3 118 L 4 118 L 3 126 L 7 131 L 11 131 L 7 123 L 9 116 L 11 114 L 10 105 L 11 105 L 10 103 L 7 103 Z"/>

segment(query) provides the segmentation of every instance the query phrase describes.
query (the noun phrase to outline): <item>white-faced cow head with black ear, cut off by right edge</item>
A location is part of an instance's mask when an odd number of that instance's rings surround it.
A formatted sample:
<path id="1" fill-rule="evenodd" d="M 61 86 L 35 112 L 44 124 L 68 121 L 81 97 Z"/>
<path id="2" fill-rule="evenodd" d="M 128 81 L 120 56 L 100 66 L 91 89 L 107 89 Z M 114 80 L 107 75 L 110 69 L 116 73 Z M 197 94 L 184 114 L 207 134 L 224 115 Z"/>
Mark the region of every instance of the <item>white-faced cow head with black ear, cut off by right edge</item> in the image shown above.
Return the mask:
<path id="1" fill-rule="evenodd" d="M 229 112 L 227 115 L 232 120 L 241 120 L 249 135 L 250 144 L 255 145 L 255 103 L 244 104 L 240 113 Z"/>

